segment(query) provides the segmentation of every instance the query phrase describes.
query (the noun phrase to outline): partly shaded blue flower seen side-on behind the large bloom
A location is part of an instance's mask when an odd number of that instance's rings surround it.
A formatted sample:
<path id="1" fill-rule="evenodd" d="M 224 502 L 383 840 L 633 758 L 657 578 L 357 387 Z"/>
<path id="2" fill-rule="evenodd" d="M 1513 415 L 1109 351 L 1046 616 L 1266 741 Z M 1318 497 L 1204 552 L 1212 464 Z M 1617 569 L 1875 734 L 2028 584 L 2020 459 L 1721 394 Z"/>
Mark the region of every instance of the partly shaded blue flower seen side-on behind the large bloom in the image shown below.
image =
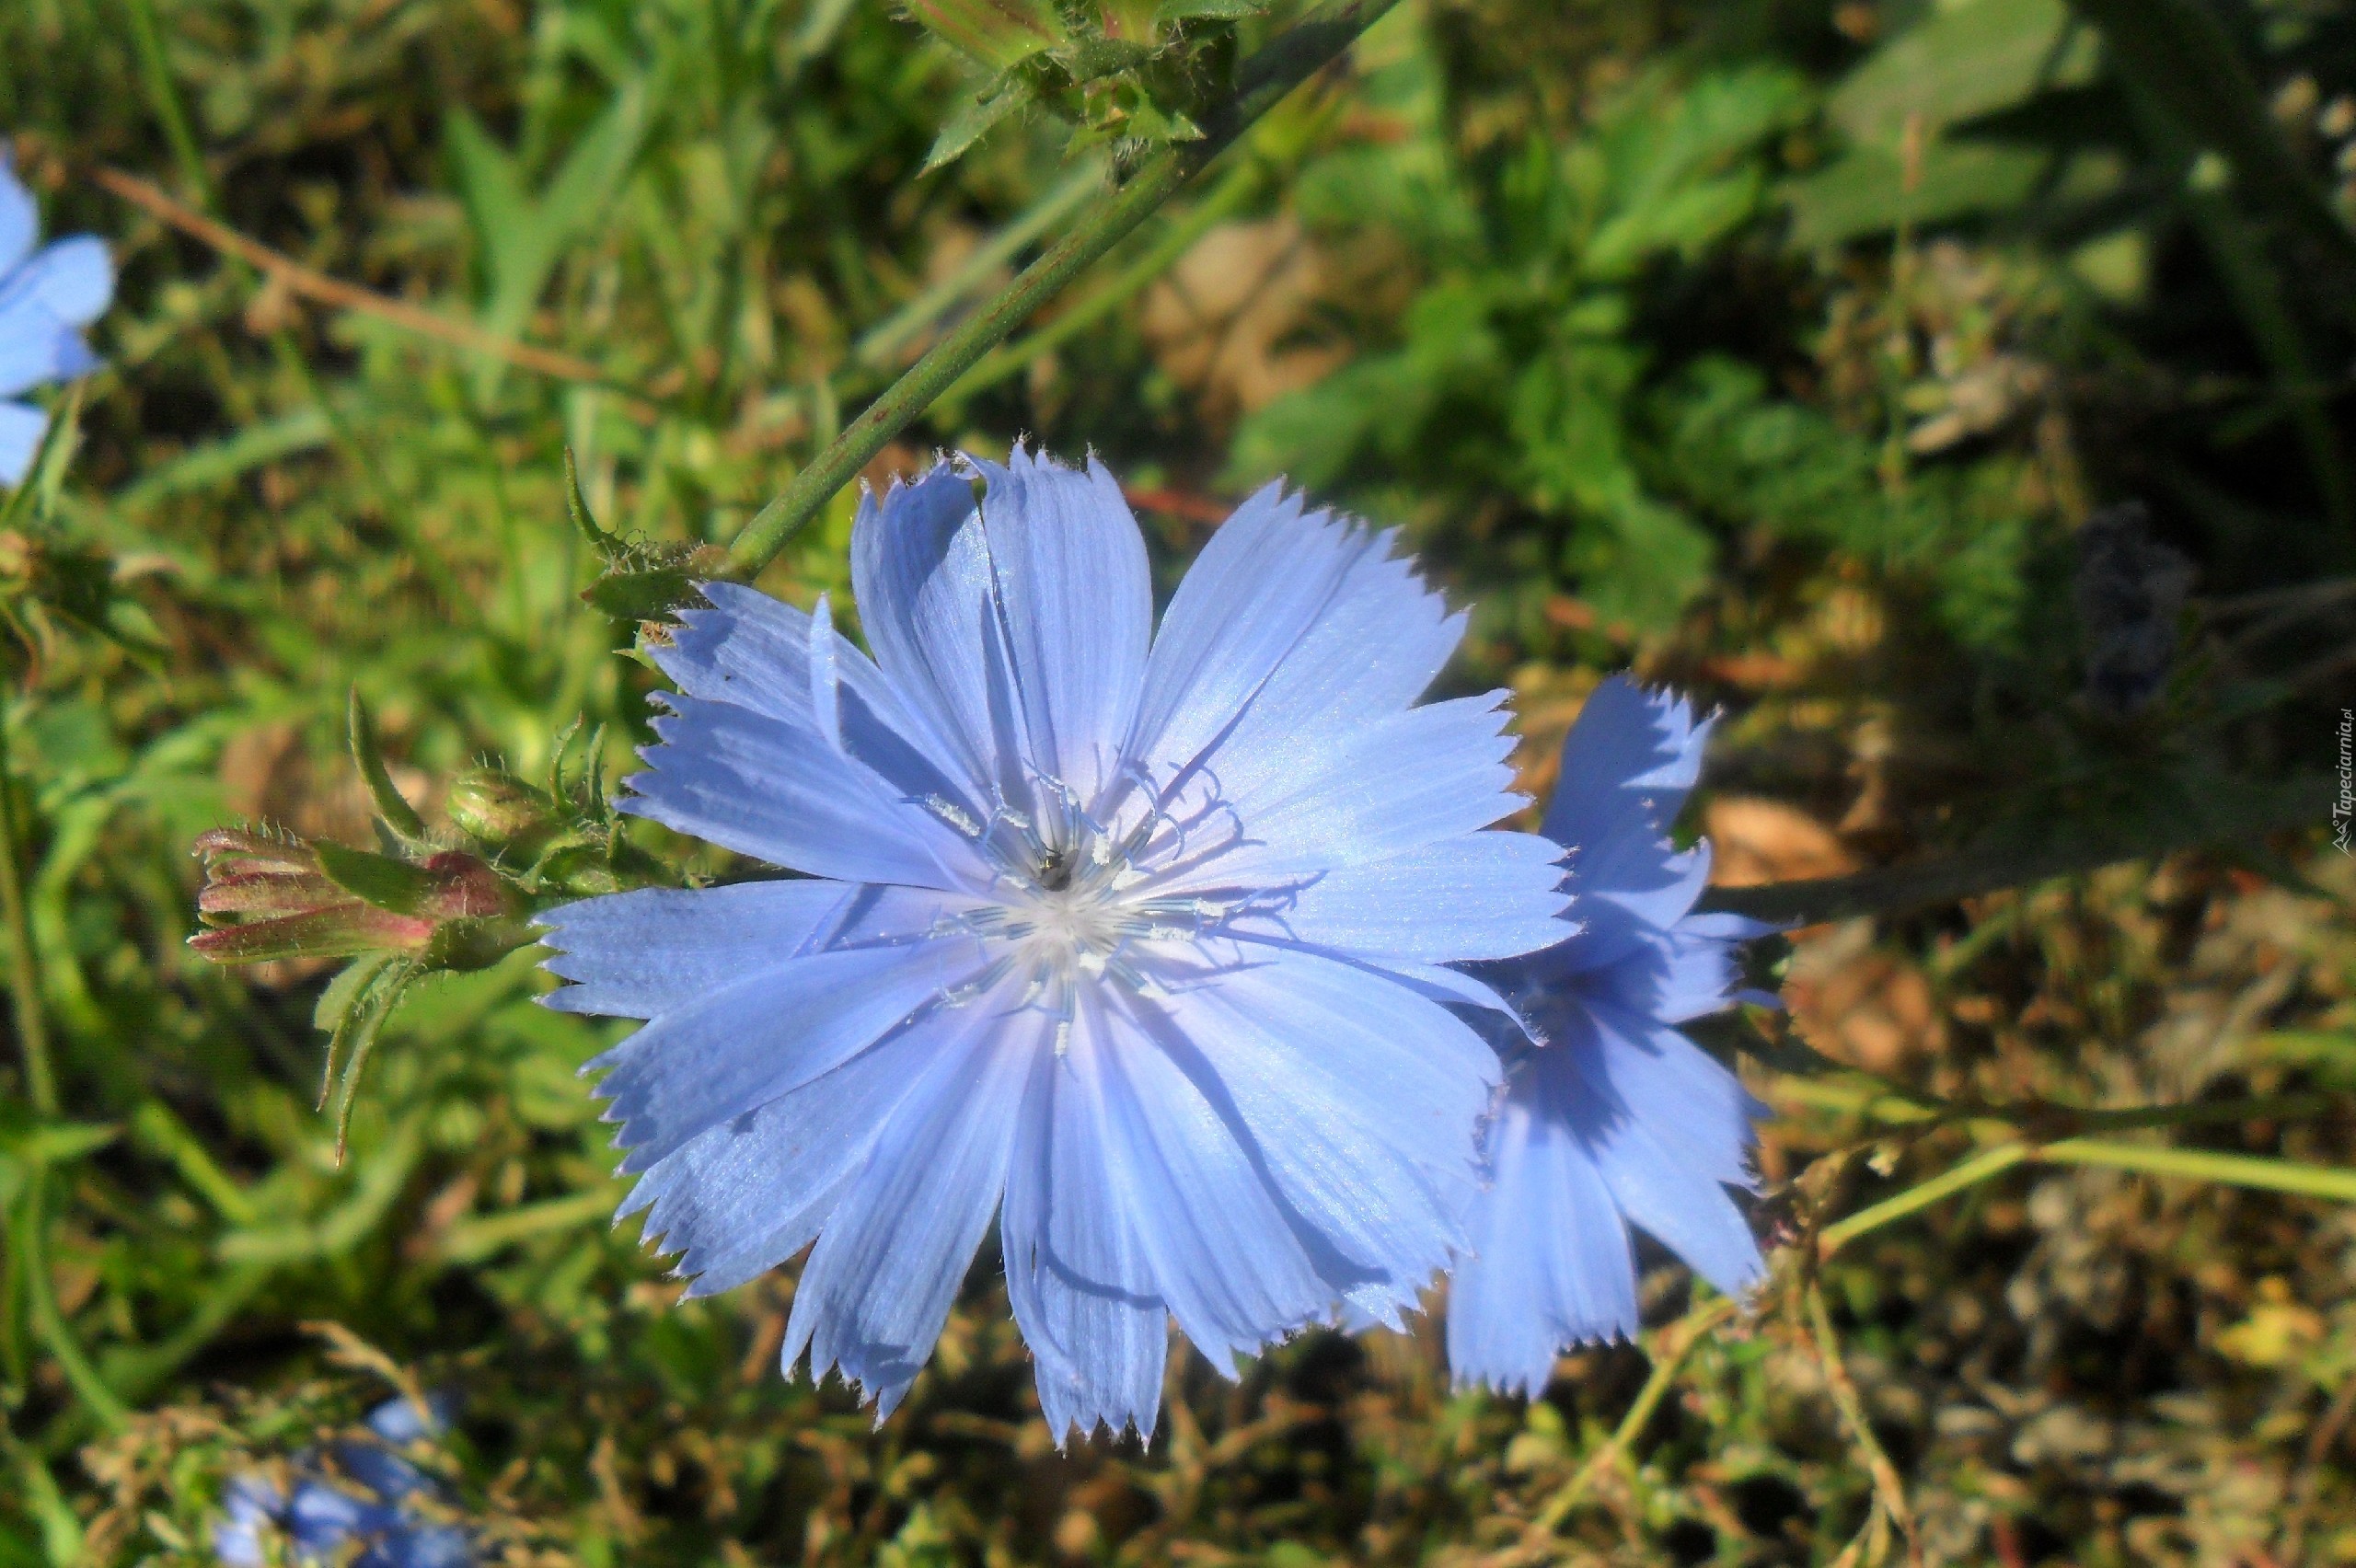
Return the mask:
<path id="1" fill-rule="evenodd" d="M 1449 1288 L 1449 1366 L 1461 1384 L 1536 1394 L 1555 1354 L 1637 1328 L 1630 1227 L 1734 1295 L 1760 1250 L 1727 1187 L 1751 1187 L 1751 1123 L 1765 1107 L 1677 1031 L 1732 1001 L 1734 949 L 1769 928 L 1692 913 L 1708 843 L 1663 829 L 1701 772 L 1710 725 L 1682 699 L 1604 680 L 1562 742 L 1546 836 L 1574 845 L 1567 921 L 1541 954 L 1480 972 L 1536 1045 L 1494 1031 L 1505 1092 L 1484 1132 L 1489 1182 L 1472 1255 Z"/>

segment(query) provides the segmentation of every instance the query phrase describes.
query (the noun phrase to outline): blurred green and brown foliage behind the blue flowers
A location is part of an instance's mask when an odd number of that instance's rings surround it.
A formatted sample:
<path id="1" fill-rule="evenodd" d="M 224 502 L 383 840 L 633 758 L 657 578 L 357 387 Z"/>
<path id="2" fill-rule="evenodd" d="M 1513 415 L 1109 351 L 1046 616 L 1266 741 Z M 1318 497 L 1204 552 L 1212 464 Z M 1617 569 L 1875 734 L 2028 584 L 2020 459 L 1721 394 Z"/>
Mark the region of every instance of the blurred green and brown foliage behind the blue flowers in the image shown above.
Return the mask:
<path id="1" fill-rule="evenodd" d="M 2351 1210 L 2193 1180 L 2351 1163 L 2321 831 L 1798 932 L 1788 1022 L 1718 1034 L 1779 1111 L 1762 1311 L 1696 1337 L 1649 1257 L 1654 1358 L 1529 1406 L 1451 1394 L 1428 1330 L 1310 1335 L 1055 1453 L 985 1255 L 872 1427 L 777 1380 L 792 1271 L 679 1304 L 610 1229 L 573 1078 L 610 1036 L 530 954 L 412 986 L 337 1161 L 325 972 L 196 961 L 191 841 L 370 843 L 351 687 L 429 822 L 575 720 L 627 770 L 653 680 L 563 450 L 648 560 L 726 542 L 1190 129 L 1185 80 L 1011 59 L 874 0 L 0 7 L 16 165 L 123 266 L 71 471 L 0 532 L 0 1563 L 207 1561 L 231 1474 L 401 1380 L 459 1391 L 452 1495 L 516 1563 L 2356 1561 Z M 1534 791 L 1602 671 L 1725 704 L 1687 826 L 1732 883 L 2316 824 L 2351 221 L 2344 0 L 1423 0 L 869 478 L 1093 447 L 1164 586 L 1275 473 L 1399 523 Z M 843 605 L 851 509 L 763 586 Z M 2222 1109 L 1892 1215 L 2007 1125 L 1906 1095 Z"/>

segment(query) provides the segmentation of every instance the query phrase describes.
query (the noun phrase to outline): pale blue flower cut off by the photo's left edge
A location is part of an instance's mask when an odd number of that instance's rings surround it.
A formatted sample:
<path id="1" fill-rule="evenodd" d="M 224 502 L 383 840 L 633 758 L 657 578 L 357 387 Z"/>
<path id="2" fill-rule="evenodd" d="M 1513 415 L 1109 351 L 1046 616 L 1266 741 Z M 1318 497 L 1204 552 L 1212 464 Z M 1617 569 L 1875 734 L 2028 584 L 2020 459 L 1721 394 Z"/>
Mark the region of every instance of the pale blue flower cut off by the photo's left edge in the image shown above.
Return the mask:
<path id="1" fill-rule="evenodd" d="M 35 252 L 38 238 L 33 193 L 0 148 L 0 485 L 24 480 L 49 428 L 49 414 L 14 398 L 97 370 L 80 327 L 115 294 L 101 240 L 78 233 Z"/>

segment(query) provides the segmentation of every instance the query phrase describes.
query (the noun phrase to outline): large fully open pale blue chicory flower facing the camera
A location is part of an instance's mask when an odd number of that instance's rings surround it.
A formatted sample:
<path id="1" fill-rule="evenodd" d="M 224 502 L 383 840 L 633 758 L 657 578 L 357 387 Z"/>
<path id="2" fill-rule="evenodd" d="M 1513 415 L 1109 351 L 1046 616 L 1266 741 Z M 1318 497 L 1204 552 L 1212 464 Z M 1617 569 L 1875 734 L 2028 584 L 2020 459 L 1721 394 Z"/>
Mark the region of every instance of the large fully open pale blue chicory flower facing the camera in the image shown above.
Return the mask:
<path id="1" fill-rule="evenodd" d="M 975 504 L 973 478 L 987 483 Z M 1152 1434 L 1169 1321 L 1237 1354 L 1395 1321 L 1461 1243 L 1496 1052 L 1444 965 L 1553 942 L 1501 695 L 1392 537 L 1270 485 L 1152 631 L 1119 485 L 1015 450 L 860 509 L 874 659 L 709 584 L 624 805 L 801 871 L 547 916 L 624 1212 L 726 1290 L 818 1243 L 785 1366 L 884 1413 L 997 1212 L 1065 1439 Z"/>

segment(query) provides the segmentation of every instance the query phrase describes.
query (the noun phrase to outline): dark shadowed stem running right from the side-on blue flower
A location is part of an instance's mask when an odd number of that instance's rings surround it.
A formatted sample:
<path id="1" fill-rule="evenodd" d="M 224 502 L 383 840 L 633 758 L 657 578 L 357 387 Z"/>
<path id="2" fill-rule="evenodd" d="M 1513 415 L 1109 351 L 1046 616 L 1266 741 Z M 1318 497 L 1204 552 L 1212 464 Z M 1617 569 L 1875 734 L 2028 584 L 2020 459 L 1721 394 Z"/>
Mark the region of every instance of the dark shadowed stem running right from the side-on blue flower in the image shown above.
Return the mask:
<path id="1" fill-rule="evenodd" d="M 2057 876 L 2083 876 L 2130 859 L 2156 859 L 2175 850 L 2236 838 L 2264 838 L 2316 826 L 2330 812 L 2335 784 L 2299 779 L 2281 789 L 2250 789 L 2255 800 L 2217 800 L 2212 810 L 2184 810 L 2153 826 L 2142 841 L 2087 836 L 2078 843 L 2036 850 L 1998 850 L 1988 855 L 1953 855 L 1915 866 L 1821 876 L 1798 883 L 1762 883 L 1758 888 L 1710 888 L 1699 909 L 1751 916 L 1774 925 L 1816 925 L 1861 916 L 1906 913 L 1932 904 L 1953 904 L 2000 888 L 2024 888 Z"/>

